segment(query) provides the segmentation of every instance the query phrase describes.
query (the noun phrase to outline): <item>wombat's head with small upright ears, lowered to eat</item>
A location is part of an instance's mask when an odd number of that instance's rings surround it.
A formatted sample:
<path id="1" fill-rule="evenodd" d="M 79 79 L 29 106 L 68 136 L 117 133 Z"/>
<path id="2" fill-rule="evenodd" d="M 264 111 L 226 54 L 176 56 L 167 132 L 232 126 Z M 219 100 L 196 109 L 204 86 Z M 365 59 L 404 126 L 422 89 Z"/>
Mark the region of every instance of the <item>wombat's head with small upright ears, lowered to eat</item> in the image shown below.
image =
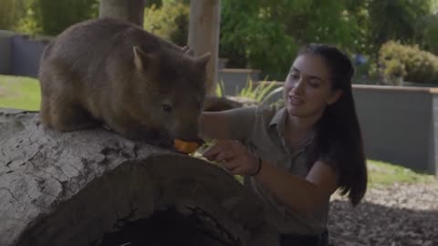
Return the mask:
<path id="1" fill-rule="evenodd" d="M 172 138 L 196 139 L 209 59 L 210 53 L 194 57 L 178 50 L 146 52 L 134 46 L 132 82 L 139 87 L 133 92 L 138 100 L 133 101 L 140 103 L 138 119 Z"/>

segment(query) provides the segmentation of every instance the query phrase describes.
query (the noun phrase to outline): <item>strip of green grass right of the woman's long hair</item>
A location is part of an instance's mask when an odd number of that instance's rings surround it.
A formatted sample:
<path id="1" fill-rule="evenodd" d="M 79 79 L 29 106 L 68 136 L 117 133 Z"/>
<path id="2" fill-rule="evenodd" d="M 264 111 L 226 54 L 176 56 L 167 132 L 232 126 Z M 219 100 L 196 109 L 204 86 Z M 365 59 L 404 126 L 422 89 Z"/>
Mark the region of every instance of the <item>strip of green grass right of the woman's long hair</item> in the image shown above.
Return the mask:
<path id="1" fill-rule="evenodd" d="M 369 186 L 381 187 L 394 183 L 436 182 L 433 175 L 415 172 L 387 162 L 368 160 Z"/>

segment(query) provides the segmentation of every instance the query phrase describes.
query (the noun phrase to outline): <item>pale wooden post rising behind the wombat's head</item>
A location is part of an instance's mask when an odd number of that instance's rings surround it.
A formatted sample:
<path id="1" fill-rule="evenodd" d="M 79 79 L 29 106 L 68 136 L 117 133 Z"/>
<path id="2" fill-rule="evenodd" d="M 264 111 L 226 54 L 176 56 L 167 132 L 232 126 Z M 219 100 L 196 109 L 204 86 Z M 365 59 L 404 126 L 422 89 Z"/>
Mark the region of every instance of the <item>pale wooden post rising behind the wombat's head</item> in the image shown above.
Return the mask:
<path id="1" fill-rule="evenodd" d="M 195 56 L 211 52 L 207 65 L 206 92 L 214 95 L 219 51 L 220 0 L 191 0 L 188 45 Z"/>

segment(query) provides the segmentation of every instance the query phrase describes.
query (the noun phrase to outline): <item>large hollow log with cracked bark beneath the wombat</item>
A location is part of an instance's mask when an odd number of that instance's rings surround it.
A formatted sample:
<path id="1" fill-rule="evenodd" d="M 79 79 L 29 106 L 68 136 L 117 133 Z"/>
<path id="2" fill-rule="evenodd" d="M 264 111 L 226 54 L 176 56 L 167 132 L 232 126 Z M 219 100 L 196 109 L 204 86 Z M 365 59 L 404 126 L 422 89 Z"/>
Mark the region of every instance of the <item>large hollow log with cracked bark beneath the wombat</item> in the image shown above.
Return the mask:
<path id="1" fill-rule="evenodd" d="M 172 220 L 144 222 L 166 210 Z M 157 232 L 160 221 L 180 225 L 181 238 Z M 276 245 L 261 203 L 203 159 L 103 128 L 60 133 L 36 112 L 0 110 L 0 245 L 122 245 L 139 237 L 175 245 L 185 233 L 201 243 L 193 245 Z"/>

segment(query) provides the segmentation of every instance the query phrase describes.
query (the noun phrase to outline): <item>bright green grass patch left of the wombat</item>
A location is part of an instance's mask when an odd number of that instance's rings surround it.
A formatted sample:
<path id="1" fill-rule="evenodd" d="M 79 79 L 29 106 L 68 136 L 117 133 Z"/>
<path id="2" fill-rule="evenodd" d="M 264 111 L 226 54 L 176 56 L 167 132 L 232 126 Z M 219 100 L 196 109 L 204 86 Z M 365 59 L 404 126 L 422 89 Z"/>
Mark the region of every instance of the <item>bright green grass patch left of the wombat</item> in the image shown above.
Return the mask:
<path id="1" fill-rule="evenodd" d="M 40 100 L 37 79 L 0 75 L 0 108 L 38 110 Z"/>

